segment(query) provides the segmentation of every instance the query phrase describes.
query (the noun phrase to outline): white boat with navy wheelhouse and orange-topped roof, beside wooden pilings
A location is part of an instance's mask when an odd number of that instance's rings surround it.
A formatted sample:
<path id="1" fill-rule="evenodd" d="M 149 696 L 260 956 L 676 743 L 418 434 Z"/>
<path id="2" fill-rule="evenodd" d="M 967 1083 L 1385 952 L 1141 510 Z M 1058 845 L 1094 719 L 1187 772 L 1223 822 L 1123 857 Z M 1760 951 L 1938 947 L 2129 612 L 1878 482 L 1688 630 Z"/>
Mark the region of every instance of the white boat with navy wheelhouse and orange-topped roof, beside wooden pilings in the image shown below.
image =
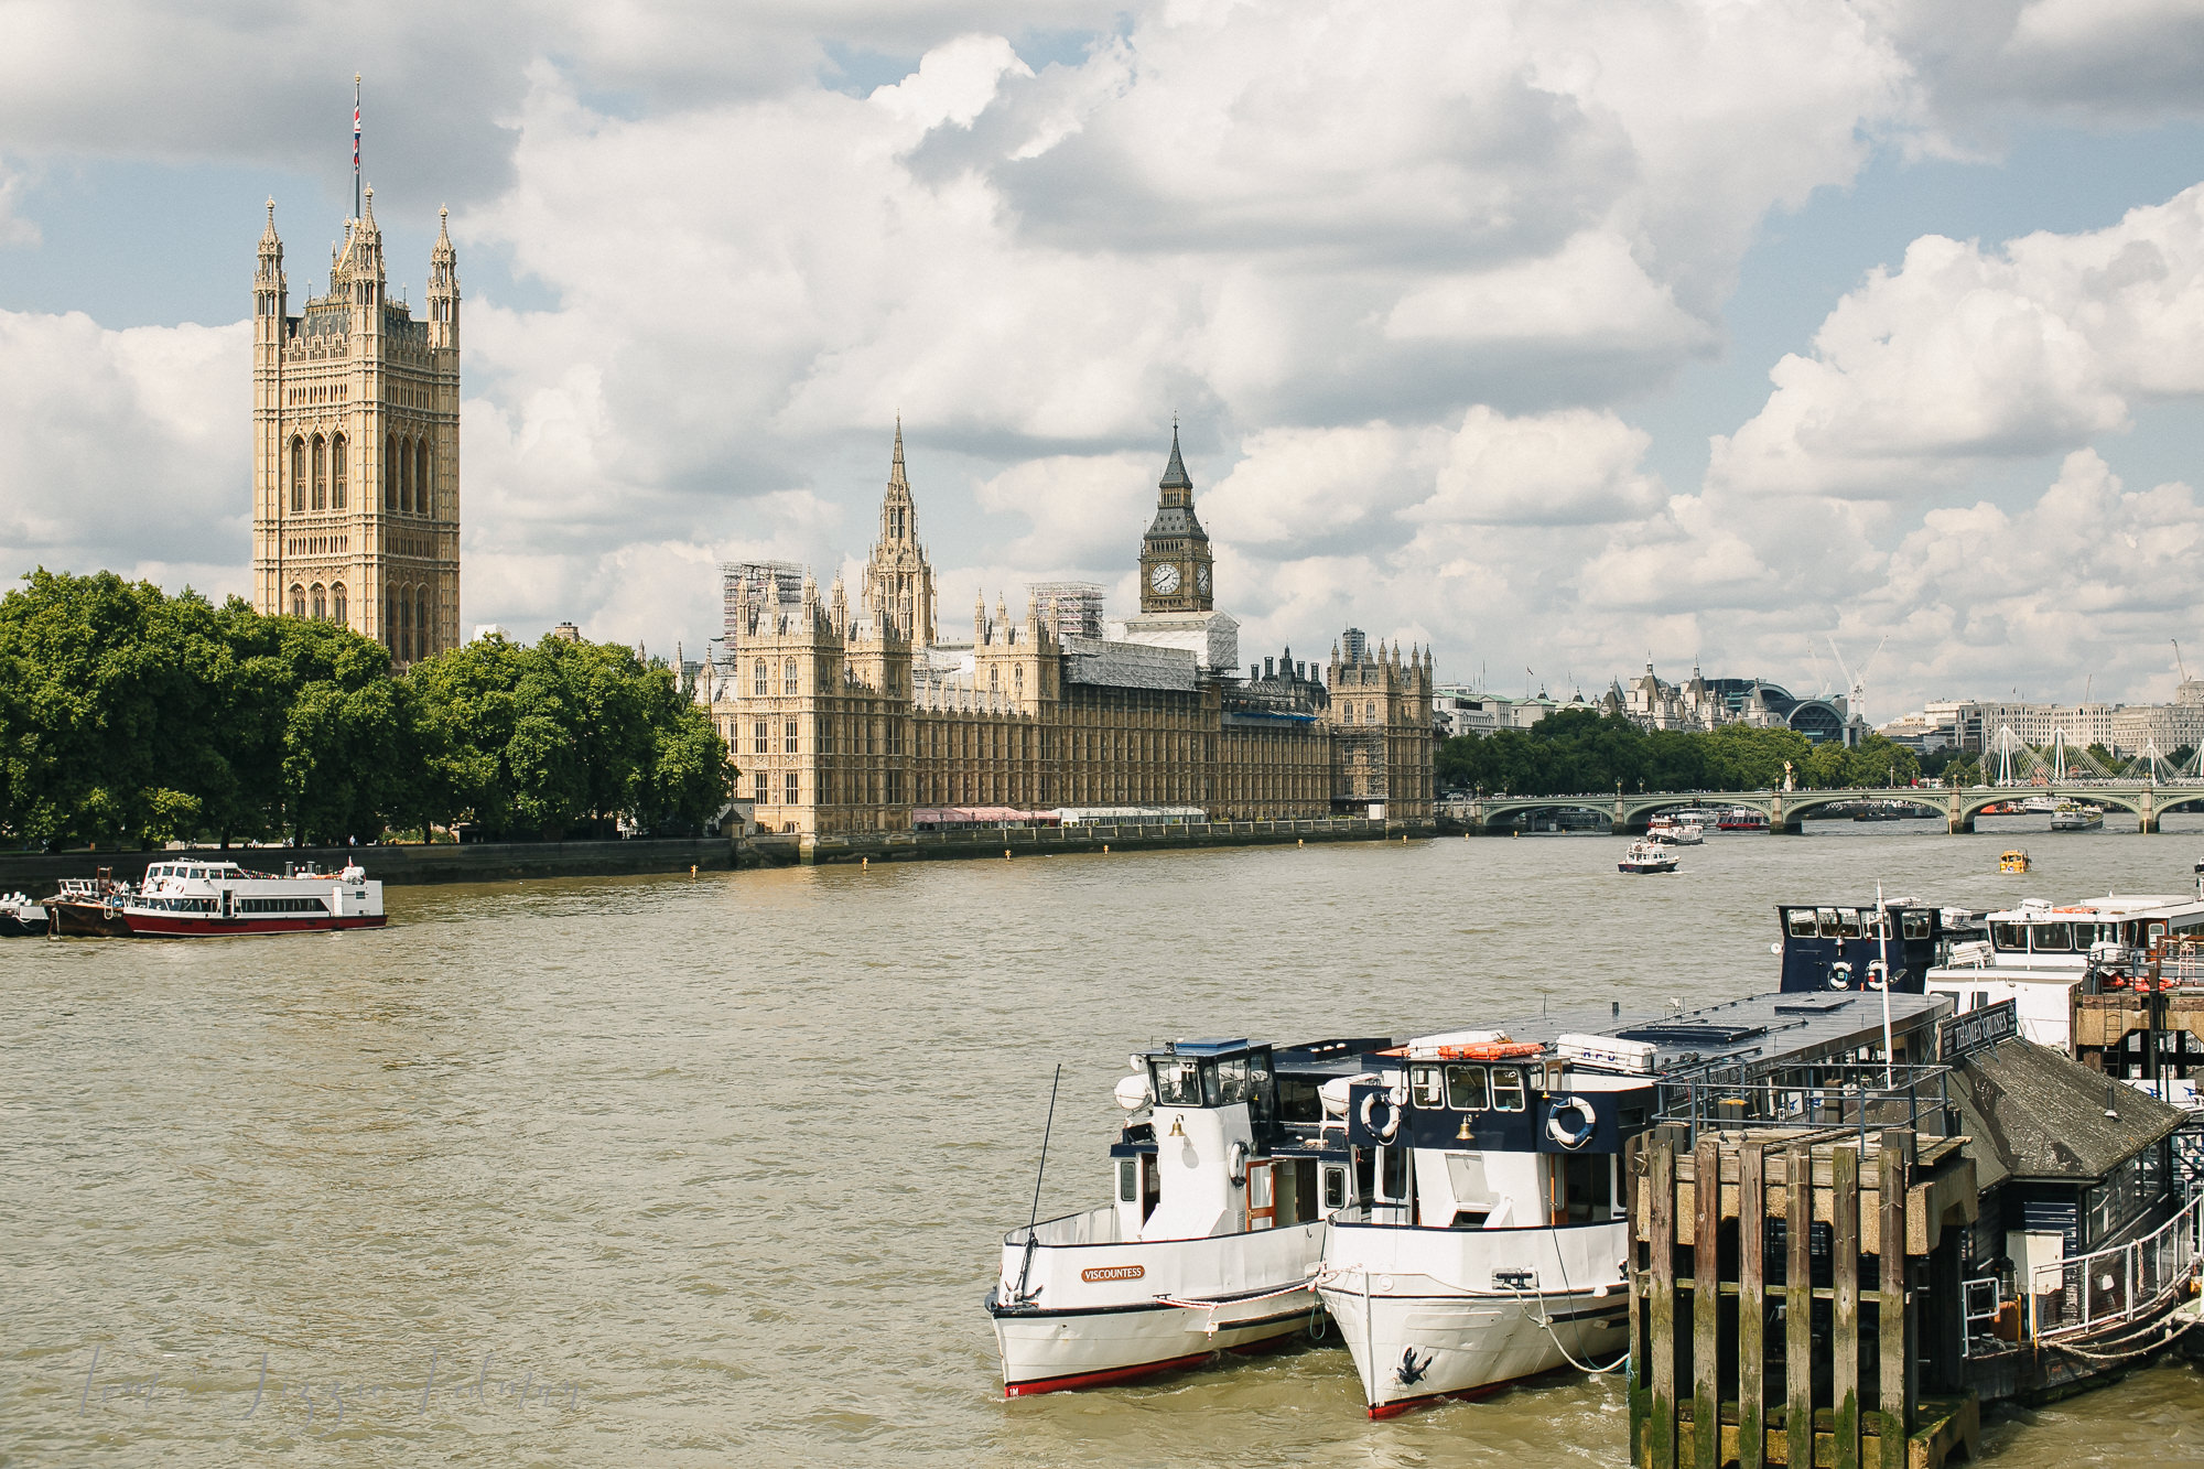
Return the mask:
<path id="1" fill-rule="evenodd" d="M 1887 1010 L 1884 1010 L 1887 1001 Z M 1351 1083 L 1353 1195 L 1318 1290 L 1373 1418 L 1627 1350 L 1620 1154 L 1660 1090 L 1935 1054 L 1931 995 L 1759 995 L 1569 1028 L 1538 1019 L 1408 1041 Z"/>

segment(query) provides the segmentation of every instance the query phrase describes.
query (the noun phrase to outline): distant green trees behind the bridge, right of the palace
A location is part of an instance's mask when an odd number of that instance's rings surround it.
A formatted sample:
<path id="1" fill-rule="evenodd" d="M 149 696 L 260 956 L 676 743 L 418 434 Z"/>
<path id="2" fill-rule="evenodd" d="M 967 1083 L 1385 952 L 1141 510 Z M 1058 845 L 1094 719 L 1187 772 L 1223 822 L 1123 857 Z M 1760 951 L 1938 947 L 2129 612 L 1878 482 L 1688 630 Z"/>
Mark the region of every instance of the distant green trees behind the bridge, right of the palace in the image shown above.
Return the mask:
<path id="1" fill-rule="evenodd" d="M 1798 730 L 1726 723 L 1644 730 L 1622 715 L 1565 708 L 1527 730 L 1457 735 L 1439 746 L 1439 790 L 1512 796 L 1591 796 L 1640 790 L 1772 790 L 1790 761 L 1801 790 L 1909 785 L 1920 763 L 1904 746 L 1867 735 L 1858 748 L 1812 743 Z"/>

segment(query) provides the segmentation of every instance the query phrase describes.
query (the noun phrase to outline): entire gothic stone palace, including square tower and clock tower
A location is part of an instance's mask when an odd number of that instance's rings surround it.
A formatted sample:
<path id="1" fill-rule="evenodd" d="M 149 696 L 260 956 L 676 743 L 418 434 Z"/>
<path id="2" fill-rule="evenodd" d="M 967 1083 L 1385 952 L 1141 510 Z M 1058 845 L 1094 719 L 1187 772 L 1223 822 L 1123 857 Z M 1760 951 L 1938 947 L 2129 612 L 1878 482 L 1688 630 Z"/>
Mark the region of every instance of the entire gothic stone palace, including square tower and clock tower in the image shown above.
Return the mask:
<path id="1" fill-rule="evenodd" d="M 375 637 L 403 668 L 458 646 L 458 256 L 425 313 L 386 291 L 375 190 L 291 315 L 276 205 L 253 276 L 253 602 Z M 1325 677 L 1239 671 L 1177 430 L 1139 549 L 1139 615 L 1036 585 L 943 637 L 895 430 L 862 607 L 785 562 L 723 569 L 725 637 L 696 675 L 767 832 L 835 836 L 1164 807 L 1219 821 L 1433 809 L 1430 653 L 1349 633 Z"/>

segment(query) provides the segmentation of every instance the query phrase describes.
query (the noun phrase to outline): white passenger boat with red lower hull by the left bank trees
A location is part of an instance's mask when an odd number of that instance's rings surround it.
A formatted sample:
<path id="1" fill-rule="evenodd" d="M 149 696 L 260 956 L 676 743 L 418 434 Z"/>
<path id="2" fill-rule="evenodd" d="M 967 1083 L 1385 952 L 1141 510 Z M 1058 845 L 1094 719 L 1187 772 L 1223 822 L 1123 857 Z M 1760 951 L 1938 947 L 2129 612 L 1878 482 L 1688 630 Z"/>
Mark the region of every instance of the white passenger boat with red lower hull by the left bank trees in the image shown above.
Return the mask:
<path id="1" fill-rule="evenodd" d="M 123 898 L 121 922 L 137 937 L 381 929 L 383 884 L 359 865 L 335 873 L 293 867 L 278 878 L 236 862 L 154 862 Z"/>

